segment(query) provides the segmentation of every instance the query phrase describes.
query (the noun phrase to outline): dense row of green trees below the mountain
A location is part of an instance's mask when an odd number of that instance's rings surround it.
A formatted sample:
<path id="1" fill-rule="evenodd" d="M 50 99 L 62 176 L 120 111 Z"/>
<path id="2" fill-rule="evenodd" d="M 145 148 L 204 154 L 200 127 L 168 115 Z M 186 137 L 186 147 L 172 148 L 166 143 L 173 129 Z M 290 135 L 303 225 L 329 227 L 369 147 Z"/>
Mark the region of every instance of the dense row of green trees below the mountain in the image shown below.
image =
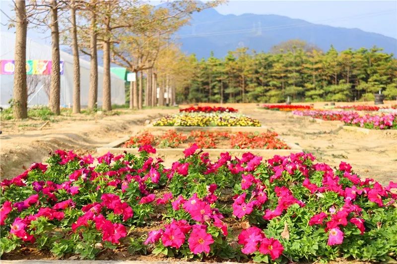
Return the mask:
<path id="1" fill-rule="evenodd" d="M 322 52 L 302 41 L 288 41 L 269 53 L 247 48 L 224 58 L 186 57 L 190 81 L 178 88 L 185 102 L 285 102 L 373 100 L 380 90 L 397 97 L 397 60 L 372 49 Z"/>

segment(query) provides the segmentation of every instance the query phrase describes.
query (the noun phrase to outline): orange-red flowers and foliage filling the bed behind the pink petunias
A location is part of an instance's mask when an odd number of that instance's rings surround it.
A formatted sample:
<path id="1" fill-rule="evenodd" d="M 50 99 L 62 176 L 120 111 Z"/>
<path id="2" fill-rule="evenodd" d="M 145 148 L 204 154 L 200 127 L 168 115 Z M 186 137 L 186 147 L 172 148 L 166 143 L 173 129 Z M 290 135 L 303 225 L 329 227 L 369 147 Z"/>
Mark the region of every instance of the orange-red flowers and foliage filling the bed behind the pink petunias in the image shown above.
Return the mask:
<path id="1" fill-rule="evenodd" d="M 197 144 L 203 149 L 290 149 L 277 136 L 277 133 L 271 131 L 263 133 L 191 131 L 189 135 L 185 135 L 168 130 L 159 136 L 145 131 L 131 137 L 122 148 L 138 148 L 147 144 L 159 148 L 181 148 Z"/>

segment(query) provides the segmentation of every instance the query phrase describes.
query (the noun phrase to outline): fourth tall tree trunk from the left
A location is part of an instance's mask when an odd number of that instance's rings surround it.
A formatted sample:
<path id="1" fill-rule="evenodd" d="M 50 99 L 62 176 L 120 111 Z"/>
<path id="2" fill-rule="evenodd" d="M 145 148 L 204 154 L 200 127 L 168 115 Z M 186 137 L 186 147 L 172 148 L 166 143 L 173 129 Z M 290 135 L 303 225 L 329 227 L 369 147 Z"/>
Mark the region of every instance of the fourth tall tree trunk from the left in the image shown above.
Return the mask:
<path id="1" fill-rule="evenodd" d="M 98 54 L 96 50 L 97 45 L 96 33 L 96 14 L 91 11 L 91 39 L 90 39 L 90 87 L 88 92 L 88 109 L 94 110 L 97 107 L 98 101 Z"/>

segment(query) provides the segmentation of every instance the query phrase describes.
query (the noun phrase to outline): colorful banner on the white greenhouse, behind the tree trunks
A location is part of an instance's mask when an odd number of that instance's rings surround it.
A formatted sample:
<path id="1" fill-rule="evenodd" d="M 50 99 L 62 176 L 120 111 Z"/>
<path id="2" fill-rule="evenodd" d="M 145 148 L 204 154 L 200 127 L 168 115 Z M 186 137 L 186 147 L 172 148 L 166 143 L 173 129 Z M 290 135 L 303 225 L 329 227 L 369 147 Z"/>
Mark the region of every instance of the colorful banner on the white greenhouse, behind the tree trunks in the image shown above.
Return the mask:
<path id="1" fill-rule="evenodd" d="M 50 75 L 51 60 L 30 59 L 26 60 L 26 74 L 32 75 Z M 15 62 L 11 59 L 0 60 L 0 74 L 14 74 Z M 60 61 L 60 73 L 64 74 L 64 61 Z"/>

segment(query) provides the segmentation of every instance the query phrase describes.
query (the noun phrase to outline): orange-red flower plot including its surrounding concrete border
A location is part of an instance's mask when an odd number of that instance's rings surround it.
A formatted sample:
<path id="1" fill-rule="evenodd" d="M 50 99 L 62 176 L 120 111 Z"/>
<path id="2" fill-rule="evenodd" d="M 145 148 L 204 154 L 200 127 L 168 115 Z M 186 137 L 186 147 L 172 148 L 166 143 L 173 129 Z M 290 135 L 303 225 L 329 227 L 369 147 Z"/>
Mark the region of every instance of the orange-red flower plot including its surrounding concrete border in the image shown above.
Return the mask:
<path id="1" fill-rule="evenodd" d="M 211 157 L 228 152 L 231 155 L 241 156 L 249 149 L 255 155 L 271 158 L 274 155 L 289 155 L 302 152 L 303 149 L 277 137 L 274 132 L 203 132 L 191 131 L 182 133 L 168 130 L 164 133 L 145 131 L 133 137 L 124 137 L 97 149 L 98 155 L 107 152 L 122 154 L 124 152 L 137 154 L 138 148 L 151 145 L 157 150 L 157 155 L 169 162 L 168 157 L 178 157 L 185 148 L 196 144 L 203 148 Z"/>

